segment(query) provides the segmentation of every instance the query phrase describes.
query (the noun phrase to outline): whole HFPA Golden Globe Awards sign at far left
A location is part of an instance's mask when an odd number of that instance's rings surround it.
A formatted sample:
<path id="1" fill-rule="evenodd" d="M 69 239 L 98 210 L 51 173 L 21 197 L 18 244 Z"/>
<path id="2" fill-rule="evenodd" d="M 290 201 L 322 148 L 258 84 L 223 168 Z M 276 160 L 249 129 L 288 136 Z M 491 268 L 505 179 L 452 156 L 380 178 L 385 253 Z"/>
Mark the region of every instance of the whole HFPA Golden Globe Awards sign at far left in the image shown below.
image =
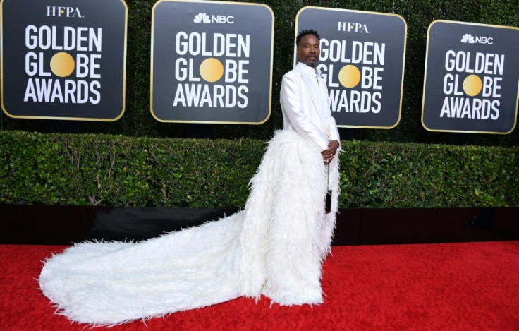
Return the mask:
<path id="1" fill-rule="evenodd" d="M 126 18 L 122 0 L 2 0 L 4 112 L 22 119 L 119 119 Z"/>

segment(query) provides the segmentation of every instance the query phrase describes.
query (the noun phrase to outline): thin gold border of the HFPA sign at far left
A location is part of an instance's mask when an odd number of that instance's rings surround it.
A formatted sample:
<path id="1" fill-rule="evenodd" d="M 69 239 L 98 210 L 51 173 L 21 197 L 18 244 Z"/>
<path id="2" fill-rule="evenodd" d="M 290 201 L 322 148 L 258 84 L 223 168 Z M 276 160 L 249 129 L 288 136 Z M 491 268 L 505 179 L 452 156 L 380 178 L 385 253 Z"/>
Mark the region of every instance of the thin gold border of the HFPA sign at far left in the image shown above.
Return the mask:
<path id="1" fill-rule="evenodd" d="M 85 118 L 85 117 L 61 117 L 61 116 L 15 116 L 11 115 L 4 108 L 4 0 L 0 0 L 0 72 L 1 72 L 1 84 L 0 84 L 0 98 L 1 107 L 4 113 L 13 119 L 59 119 L 59 120 L 73 120 L 73 121 L 100 121 L 100 122 L 114 122 L 124 114 L 126 110 L 126 42 L 128 40 L 128 6 L 124 0 L 119 0 L 124 6 L 124 50 L 123 50 L 123 109 L 121 114 L 114 117 L 114 119 L 96 119 L 96 118 Z"/>

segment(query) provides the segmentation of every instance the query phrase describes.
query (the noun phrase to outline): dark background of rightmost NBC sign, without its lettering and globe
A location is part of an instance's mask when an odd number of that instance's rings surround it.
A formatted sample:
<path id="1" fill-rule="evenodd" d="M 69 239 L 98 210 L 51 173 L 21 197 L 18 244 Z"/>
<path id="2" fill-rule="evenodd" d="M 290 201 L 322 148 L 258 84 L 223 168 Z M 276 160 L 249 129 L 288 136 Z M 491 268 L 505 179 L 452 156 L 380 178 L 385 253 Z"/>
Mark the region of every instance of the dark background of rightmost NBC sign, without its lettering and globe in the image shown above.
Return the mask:
<path id="1" fill-rule="evenodd" d="M 461 42 L 466 35 L 466 41 L 471 36 L 472 43 Z M 470 36 L 469 36 L 470 35 Z M 491 44 L 477 42 L 475 37 L 491 38 Z M 517 107 L 519 100 L 519 29 L 500 27 L 497 25 L 481 25 L 475 23 L 449 22 L 435 20 L 429 25 L 427 37 L 427 60 L 425 68 L 424 97 L 422 105 L 422 125 L 429 131 L 466 132 L 466 133 L 510 133 L 517 121 Z M 463 92 L 463 81 L 471 72 L 447 71 L 446 53 L 470 52 L 470 66 L 474 66 L 475 54 L 503 54 L 503 76 L 475 73 L 483 79 L 484 76 L 502 77 L 501 97 L 482 97 L 482 92 L 470 96 Z M 440 117 L 441 109 L 446 97 L 456 97 L 444 93 L 444 77 L 446 74 L 458 73 L 458 90 L 463 95 L 458 100 L 499 100 L 499 117 L 497 119 L 469 119 Z"/>

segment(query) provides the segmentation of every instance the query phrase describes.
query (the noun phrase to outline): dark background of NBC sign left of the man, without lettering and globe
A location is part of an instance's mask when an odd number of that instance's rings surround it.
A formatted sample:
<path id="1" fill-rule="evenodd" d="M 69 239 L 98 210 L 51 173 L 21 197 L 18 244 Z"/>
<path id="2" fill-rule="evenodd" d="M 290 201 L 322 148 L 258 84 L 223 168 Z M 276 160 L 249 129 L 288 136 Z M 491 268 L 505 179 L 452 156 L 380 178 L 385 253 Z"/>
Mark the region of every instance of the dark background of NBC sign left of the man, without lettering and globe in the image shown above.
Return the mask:
<path id="1" fill-rule="evenodd" d="M 205 14 L 230 18 L 233 23 L 214 22 L 195 23 L 195 17 Z M 242 4 L 219 1 L 159 1 L 152 11 L 152 81 L 151 112 L 155 119 L 164 122 L 188 123 L 227 123 L 227 124 L 262 124 L 270 116 L 271 80 L 272 80 L 272 44 L 274 42 L 274 14 L 268 6 L 262 4 Z M 195 56 L 176 53 L 176 35 L 185 32 L 190 35 L 197 32 L 207 37 L 207 52 L 212 52 L 212 36 L 219 34 L 250 35 L 250 56 Z M 193 59 L 193 76 L 200 78 L 200 64 L 205 59 L 214 58 L 220 62 L 227 59 L 248 60 L 248 73 L 244 75 L 248 83 L 224 83 L 224 78 L 216 82 L 179 81 L 176 79 L 176 60 Z M 248 103 L 240 107 L 189 107 L 181 103 L 173 107 L 178 85 L 245 85 L 248 88 Z M 192 105 L 193 106 L 193 105 Z M 207 106 L 207 104 L 205 104 Z"/>

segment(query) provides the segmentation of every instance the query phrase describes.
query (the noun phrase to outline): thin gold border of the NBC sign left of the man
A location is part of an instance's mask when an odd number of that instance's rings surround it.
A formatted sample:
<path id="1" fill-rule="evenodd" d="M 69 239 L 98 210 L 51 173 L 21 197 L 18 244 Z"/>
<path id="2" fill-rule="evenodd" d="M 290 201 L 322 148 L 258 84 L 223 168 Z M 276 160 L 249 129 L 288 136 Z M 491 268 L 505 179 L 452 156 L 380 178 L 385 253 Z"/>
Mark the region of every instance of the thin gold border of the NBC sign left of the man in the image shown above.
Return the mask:
<path id="1" fill-rule="evenodd" d="M 2 0 L 3 1 L 3 0 Z M 175 120 L 164 120 L 159 119 L 153 112 L 153 40 L 154 40 L 154 23 L 155 23 L 155 8 L 157 5 L 163 2 L 198 2 L 203 4 L 237 4 L 243 6 L 262 6 L 267 8 L 272 16 L 272 25 L 271 25 L 271 45 L 270 45 L 270 86 L 269 86 L 269 114 L 267 117 L 260 122 L 228 122 L 228 121 L 175 121 Z M 274 66 L 274 12 L 272 9 L 266 4 L 249 4 L 245 2 L 236 2 L 236 1 L 207 1 L 207 0 L 159 0 L 157 1 L 152 8 L 152 52 L 151 52 L 151 65 L 150 65 L 150 75 L 149 75 L 149 112 L 152 113 L 154 119 L 163 123 L 196 123 L 196 124 L 252 124 L 259 125 L 264 124 L 269 120 L 271 109 L 272 109 L 272 68 Z"/>

